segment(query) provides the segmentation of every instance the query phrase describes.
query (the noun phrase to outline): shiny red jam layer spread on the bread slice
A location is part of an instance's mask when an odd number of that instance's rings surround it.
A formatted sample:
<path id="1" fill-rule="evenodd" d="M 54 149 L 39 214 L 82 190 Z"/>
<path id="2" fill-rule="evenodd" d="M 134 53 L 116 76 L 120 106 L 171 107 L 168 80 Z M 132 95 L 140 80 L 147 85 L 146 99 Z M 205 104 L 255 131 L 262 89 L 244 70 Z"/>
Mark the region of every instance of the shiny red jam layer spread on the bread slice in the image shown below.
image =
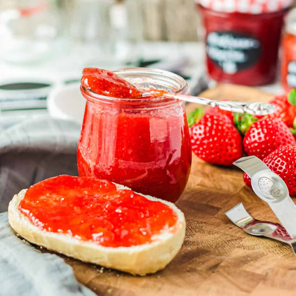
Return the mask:
<path id="1" fill-rule="evenodd" d="M 31 186 L 19 210 L 41 230 L 70 234 L 105 247 L 152 241 L 163 229 L 175 230 L 178 217 L 167 205 L 110 181 L 57 176 Z"/>

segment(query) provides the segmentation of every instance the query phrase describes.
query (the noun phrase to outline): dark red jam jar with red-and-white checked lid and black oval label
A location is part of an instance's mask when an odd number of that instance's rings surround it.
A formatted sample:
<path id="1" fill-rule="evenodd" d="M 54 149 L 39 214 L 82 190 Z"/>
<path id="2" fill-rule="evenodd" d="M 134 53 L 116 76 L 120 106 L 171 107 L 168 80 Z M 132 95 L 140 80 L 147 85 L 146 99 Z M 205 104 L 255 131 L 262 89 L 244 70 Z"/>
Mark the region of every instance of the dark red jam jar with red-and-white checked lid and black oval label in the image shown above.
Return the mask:
<path id="1" fill-rule="evenodd" d="M 249 86 L 272 82 L 283 19 L 291 4 L 292 0 L 198 1 L 210 77 Z"/>

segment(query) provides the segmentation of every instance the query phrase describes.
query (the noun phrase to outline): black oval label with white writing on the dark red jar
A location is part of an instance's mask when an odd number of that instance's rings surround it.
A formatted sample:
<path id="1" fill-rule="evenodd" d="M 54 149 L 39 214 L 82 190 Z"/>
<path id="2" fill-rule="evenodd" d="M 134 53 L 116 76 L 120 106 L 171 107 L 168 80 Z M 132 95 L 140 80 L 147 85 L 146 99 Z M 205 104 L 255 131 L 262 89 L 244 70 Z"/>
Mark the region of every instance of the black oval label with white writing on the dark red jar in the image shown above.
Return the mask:
<path id="1" fill-rule="evenodd" d="M 208 57 L 228 74 L 253 66 L 262 51 L 259 40 L 232 31 L 210 32 L 206 43 Z"/>

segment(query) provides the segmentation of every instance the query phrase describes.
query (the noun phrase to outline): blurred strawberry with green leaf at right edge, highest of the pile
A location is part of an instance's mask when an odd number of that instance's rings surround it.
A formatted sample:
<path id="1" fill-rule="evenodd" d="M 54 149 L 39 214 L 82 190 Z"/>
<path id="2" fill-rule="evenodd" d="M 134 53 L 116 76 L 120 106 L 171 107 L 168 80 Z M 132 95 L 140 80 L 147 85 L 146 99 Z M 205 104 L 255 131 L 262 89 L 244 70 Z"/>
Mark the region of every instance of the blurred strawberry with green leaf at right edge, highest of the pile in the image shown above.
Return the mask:
<path id="1" fill-rule="evenodd" d="M 276 96 L 269 101 L 270 104 L 276 107 L 276 111 L 270 115 L 269 118 L 279 118 L 281 119 L 288 127 L 293 126 L 293 121 L 296 117 L 296 90 L 281 96 Z"/>

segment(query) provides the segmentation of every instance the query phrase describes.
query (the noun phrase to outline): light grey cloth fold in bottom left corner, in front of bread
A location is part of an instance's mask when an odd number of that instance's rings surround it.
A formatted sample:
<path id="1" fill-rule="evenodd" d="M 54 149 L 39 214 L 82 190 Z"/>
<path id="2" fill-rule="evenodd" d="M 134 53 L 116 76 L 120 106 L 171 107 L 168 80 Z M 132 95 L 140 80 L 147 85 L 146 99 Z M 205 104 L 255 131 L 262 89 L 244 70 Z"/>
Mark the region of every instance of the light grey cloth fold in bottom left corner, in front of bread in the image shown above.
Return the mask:
<path id="1" fill-rule="evenodd" d="M 7 212 L 0 214 L 1 296 L 94 296 L 57 255 L 41 253 L 15 235 Z"/>

